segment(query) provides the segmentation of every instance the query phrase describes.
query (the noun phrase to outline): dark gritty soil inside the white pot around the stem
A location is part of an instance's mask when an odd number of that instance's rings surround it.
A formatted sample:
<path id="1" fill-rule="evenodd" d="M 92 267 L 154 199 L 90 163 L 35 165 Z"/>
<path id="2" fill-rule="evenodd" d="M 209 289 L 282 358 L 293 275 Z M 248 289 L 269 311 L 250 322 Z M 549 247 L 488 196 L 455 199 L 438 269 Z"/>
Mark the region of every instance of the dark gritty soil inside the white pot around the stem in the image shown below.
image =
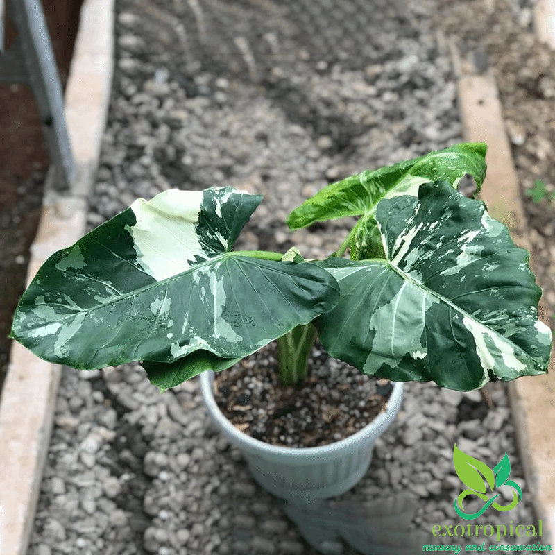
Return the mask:
<path id="1" fill-rule="evenodd" d="M 277 346 L 216 374 L 214 397 L 232 424 L 249 436 L 285 447 L 316 447 L 355 434 L 386 409 L 393 384 L 362 374 L 316 344 L 307 377 L 282 386 Z"/>

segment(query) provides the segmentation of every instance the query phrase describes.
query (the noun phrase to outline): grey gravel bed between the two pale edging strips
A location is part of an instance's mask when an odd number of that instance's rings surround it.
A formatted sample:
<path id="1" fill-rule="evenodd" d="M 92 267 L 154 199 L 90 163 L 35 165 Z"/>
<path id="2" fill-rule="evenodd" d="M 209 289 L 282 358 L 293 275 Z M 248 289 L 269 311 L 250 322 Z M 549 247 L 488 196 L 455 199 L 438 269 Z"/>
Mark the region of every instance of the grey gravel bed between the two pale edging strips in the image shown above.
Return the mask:
<path id="1" fill-rule="evenodd" d="M 449 52 L 428 23 L 434 6 L 118 0 L 90 227 L 137 196 L 232 185 L 265 196 L 238 248 L 331 252 L 350 223 L 289 234 L 293 207 L 343 176 L 461 141 Z M 160 395 L 135 364 L 66 369 L 55 418 L 28 555 L 318 552 L 216 432 L 197 379 Z M 506 452 L 522 487 L 510 515 L 488 511 L 473 522 L 534 523 L 503 384 L 485 396 L 407 384 L 368 474 L 340 500 L 410 498 L 425 543 L 476 542 L 431 533 L 462 522 L 455 442 L 490 468 Z M 355 551 L 336 538 L 319 552 Z"/>

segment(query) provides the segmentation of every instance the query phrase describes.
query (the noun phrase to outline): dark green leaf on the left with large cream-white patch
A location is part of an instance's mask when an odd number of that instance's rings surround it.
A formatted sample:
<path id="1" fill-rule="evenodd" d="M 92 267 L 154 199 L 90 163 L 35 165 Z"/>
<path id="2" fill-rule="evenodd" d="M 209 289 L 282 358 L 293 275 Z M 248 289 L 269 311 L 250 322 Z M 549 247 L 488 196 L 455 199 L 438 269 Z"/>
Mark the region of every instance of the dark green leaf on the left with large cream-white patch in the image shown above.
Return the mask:
<path id="1" fill-rule="evenodd" d="M 244 357 L 310 322 L 338 298 L 327 271 L 231 252 L 261 199 L 225 187 L 136 200 L 45 262 L 11 336 L 87 369 L 196 350 Z"/>

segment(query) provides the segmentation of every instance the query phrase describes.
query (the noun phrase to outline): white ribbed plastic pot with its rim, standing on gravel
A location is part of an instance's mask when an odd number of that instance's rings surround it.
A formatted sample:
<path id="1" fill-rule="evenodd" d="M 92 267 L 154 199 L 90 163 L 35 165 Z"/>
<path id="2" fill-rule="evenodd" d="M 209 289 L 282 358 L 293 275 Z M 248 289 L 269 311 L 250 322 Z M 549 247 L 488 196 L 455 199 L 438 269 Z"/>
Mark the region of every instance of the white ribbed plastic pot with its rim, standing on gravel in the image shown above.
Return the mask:
<path id="1" fill-rule="evenodd" d="M 223 416 L 212 391 L 214 373 L 200 375 L 200 388 L 216 426 L 241 450 L 255 480 L 286 499 L 325 498 L 350 490 L 366 474 L 376 438 L 391 425 L 402 401 L 394 382 L 386 410 L 348 438 L 320 447 L 278 447 L 240 432 Z"/>

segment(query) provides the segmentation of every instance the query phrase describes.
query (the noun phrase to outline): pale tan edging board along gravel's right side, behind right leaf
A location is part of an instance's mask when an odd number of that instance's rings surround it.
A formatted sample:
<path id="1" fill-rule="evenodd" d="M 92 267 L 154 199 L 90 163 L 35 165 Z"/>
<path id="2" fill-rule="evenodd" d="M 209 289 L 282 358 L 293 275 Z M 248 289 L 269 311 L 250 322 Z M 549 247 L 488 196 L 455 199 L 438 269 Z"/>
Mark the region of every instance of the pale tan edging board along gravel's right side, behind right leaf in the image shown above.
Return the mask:
<path id="1" fill-rule="evenodd" d="M 507 225 L 515 244 L 530 250 L 527 224 L 520 198 L 518 176 L 504 129 L 502 106 L 492 76 L 459 78 L 459 103 L 463 133 L 469 141 L 486 142 L 488 171 L 481 198 L 488 212 Z M 533 258 L 530 266 L 534 271 Z M 536 272 L 535 272 L 536 273 Z M 540 301 L 540 319 L 548 314 Z M 542 543 L 555 542 L 555 356 L 549 373 L 522 377 L 509 384 L 512 416 L 524 474 L 534 511 L 543 520 Z"/>

